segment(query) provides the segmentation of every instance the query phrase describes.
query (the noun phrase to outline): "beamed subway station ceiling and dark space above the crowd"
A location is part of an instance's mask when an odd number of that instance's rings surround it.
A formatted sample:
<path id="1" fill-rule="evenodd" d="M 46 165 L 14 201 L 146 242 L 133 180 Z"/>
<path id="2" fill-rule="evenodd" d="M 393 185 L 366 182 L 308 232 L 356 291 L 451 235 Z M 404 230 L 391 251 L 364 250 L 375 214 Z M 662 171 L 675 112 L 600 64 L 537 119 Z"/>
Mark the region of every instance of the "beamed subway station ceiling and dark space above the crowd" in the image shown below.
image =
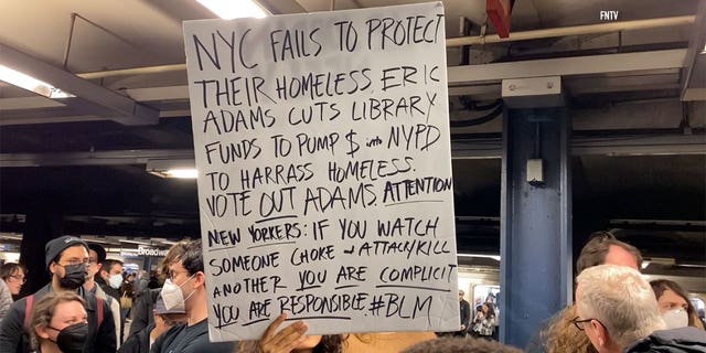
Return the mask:
<path id="1" fill-rule="evenodd" d="M 416 2 L 260 1 L 275 14 Z M 515 1 L 510 41 L 493 40 L 485 1 L 442 2 L 460 252 L 500 244 L 501 81 L 561 76 L 575 242 L 616 229 L 648 257 L 706 265 L 704 1 Z M 0 65 L 76 95 L 0 82 L 0 232 L 50 212 L 67 234 L 197 236 L 196 183 L 146 165 L 193 159 L 181 23 L 213 18 L 194 0 L 0 1 Z"/>

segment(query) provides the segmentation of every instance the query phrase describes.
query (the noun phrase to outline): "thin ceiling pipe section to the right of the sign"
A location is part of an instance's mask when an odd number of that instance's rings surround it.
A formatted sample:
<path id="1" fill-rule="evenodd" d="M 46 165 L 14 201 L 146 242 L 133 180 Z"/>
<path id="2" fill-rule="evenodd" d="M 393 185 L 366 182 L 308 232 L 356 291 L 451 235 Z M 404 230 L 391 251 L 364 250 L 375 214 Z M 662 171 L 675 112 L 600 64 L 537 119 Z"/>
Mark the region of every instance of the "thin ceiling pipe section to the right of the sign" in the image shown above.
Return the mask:
<path id="1" fill-rule="evenodd" d="M 545 29 L 545 30 L 536 30 L 536 31 L 511 32 L 509 38 L 500 38 L 498 34 L 485 35 L 485 36 L 483 35 L 461 36 L 461 38 L 447 39 L 446 46 L 479 45 L 479 44 L 489 44 L 489 43 L 538 40 L 538 39 L 545 39 L 545 38 L 556 38 L 556 36 L 567 36 L 567 35 L 584 35 L 584 34 L 598 34 L 598 33 L 609 33 L 609 32 L 628 31 L 628 30 L 655 29 L 661 26 L 693 24 L 695 21 L 696 21 L 695 15 L 680 15 L 680 17 L 673 17 L 673 18 L 622 21 L 622 22 L 606 22 L 606 23 L 598 23 L 598 24 L 574 25 L 574 26 Z"/>

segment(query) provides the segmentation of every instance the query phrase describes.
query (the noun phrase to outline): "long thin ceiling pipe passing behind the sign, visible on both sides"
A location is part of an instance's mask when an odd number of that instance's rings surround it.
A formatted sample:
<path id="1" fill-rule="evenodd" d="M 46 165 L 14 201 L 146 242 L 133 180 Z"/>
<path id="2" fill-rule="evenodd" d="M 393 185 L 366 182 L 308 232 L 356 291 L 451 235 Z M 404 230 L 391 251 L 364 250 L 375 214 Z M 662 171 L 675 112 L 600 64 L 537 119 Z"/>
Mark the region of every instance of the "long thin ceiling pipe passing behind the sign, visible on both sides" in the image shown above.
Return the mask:
<path id="1" fill-rule="evenodd" d="M 331 2 L 331 4 L 333 4 L 333 2 Z M 696 21 L 695 15 L 681 15 L 681 17 L 673 17 L 673 18 L 623 21 L 623 22 L 607 22 L 607 23 L 599 23 L 599 24 L 575 25 L 575 26 L 565 26 L 565 28 L 536 30 L 536 31 L 512 32 L 510 33 L 510 38 L 505 38 L 505 39 L 498 36 L 498 34 L 461 36 L 461 38 L 452 38 L 452 39 L 446 40 L 446 46 L 453 47 L 453 46 L 462 46 L 462 45 L 479 45 L 479 44 L 489 44 L 489 43 L 538 40 L 538 39 L 545 39 L 545 38 L 556 38 L 556 36 L 567 36 L 567 35 L 608 33 L 608 32 L 627 31 L 627 30 L 644 30 L 644 29 L 654 29 L 654 28 L 662 28 L 662 26 L 693 24 L 695 21 Z M 179 71 L 185 71 L 185 69 L 186 69 L 186 64 L 173 64 L 173 65 L 146 66 L 146 67 L 133 67 L 133 68 L 124 68 L 124 69 L 98 71 L 98 72 L 92 72 L 92 73 L 76 74 L 76 76 L 85 79 L 94 79 L 94 78 L 104 78 L 104 77 L 110 77 L 110 76 L 146 75 L 146 74 L 179 72 Z"/>

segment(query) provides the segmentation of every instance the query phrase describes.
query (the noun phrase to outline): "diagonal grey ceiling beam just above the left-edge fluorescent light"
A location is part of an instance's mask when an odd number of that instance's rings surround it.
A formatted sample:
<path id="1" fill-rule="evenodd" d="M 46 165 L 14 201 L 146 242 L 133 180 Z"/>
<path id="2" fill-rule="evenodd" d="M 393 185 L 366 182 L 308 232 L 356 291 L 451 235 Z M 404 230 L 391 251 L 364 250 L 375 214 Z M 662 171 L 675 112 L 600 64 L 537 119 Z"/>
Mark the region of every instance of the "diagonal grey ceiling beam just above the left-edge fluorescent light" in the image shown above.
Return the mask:
<path id="1" fill-rule="evenodd" d="M 88 107 L 86 107 L 85 104 L 73 99 L 62 101 L 76 109 L 94 109 L 95 106 L 99 106 L 108 110 L 109 115 L 106 115 L 106 111 L 99 111 L 97 115 L 106 116 L 106 119 L 125 125 L 154 125 L 159 122 L 159 111 L 156 109 L 137 104 L 128 97 L 77 77 L 67 71 L 2 43 L 0 43 L 0 62 L 8 67 L 50 83 L 89 103 Z"/>

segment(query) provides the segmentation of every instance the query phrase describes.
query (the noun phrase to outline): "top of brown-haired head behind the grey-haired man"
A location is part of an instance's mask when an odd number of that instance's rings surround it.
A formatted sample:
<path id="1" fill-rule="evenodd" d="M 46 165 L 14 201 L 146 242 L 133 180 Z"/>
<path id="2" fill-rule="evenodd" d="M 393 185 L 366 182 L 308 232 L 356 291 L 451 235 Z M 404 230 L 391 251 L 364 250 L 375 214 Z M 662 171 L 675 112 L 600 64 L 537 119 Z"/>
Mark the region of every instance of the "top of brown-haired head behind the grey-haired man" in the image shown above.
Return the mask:
<path id="1" fill-rule="evenodd" d="M 642 255 L 634 246 L 620 242 L 610 232 L 596 232 L 581 248 L 576 260 L 576 272 L 597 265 L 619 265 L 640 270 Z"/>

